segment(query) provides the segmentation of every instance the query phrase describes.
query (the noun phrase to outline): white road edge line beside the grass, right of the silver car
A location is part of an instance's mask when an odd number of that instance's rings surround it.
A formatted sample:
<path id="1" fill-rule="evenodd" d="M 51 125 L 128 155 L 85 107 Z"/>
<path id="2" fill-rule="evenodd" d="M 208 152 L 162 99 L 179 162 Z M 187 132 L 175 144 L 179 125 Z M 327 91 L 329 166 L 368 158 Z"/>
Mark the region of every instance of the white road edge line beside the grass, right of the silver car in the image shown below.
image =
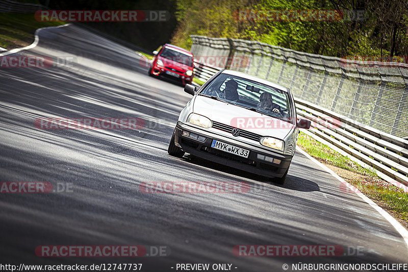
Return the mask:
<path id="1" fill-rule="evenodd" d="M 302 155 L 319 165 L 321 168 L 326 170 L 331 174 L 331 176 L 335 177 L 342 183 L 346 184 L 348 187 L 353 188 L 351 184 L 349 184 L 347 181 L 343 180 L 339 175 L 337 175 L 333 170 L 328 168 L 326 165 L 322 164 L 312 156 L 310 156 L 307 152 L 302 150 L 299 146 L 296 151 L 299 151 Z M 374 208 L 379 214 L 381 214 L 387 221 L 390 222 L 390 224 L 395 228 L 395 230 L 401 235 L 402 239 L 405 242 L 406 247 L 408 248 L 408 230 L 406 230 L 400 222 L 397 221 L 394 217 L 392 217 L 388 212 L 386 212 L 384 209 L 379 207 L 377 204 L 375 204 L 372 200 L 370 200 L 367 196 L 365 196 L 362 192 L 356 192 L 368 205 L 370 205 L 372 208 Z"/>

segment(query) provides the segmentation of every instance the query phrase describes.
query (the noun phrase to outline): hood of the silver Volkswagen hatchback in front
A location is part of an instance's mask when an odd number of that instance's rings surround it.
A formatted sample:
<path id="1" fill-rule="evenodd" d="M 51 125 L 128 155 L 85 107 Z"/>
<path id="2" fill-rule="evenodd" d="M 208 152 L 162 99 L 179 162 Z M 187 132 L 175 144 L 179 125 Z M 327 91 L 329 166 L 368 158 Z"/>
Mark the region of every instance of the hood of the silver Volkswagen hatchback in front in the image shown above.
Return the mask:
<path id="1" fill-rule="evenodd" d="M 286 121 L 203 95 L 195 97 L 193 112 L 234 128 L 278 139 L 285 139 L 294 127 Z"/>

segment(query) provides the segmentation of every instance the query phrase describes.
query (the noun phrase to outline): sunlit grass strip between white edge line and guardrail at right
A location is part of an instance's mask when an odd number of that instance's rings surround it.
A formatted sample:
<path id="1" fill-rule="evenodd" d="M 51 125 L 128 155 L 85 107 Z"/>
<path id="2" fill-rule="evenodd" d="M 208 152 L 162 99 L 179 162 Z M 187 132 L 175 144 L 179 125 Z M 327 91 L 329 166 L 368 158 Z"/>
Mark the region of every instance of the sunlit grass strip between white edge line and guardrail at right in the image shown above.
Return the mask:
<path id="1" fill-rule="evenodd" d="M 297 144 L 408 228 L 408 193 L 304 133 L 299 134 Z"/>

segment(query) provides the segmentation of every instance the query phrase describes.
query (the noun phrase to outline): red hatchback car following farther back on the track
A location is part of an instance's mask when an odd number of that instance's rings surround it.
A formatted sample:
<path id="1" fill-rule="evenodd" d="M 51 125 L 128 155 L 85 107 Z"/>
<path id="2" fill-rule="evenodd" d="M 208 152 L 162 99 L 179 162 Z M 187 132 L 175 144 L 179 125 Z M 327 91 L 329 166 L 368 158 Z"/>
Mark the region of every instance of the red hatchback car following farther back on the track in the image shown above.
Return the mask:
<path id="1" fill-rule="evenodd" d="M 153 54 L 155 57 L 148 72 L 150 76 L 161 76 L 175 80 L 183 86 L 191 84 L 194 78 L 194 56 L 190 51 L 166 43 Z"/>

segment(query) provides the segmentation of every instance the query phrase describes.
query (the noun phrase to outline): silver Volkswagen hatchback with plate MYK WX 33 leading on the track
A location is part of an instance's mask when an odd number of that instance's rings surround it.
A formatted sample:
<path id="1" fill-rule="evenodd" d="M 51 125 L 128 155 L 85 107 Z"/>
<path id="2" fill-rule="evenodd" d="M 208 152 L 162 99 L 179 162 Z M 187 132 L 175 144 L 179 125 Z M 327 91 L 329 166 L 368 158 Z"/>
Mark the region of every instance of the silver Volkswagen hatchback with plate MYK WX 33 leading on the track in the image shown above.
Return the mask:
<path id="1" fill-rule="evenodd" d="M 272 178 L 283 184 L 295 153 L 299 128 L 288 88 L 245 73 L 221 70 L 198 90 L 181 111 L 168 153 L 184 153 Z"/>

